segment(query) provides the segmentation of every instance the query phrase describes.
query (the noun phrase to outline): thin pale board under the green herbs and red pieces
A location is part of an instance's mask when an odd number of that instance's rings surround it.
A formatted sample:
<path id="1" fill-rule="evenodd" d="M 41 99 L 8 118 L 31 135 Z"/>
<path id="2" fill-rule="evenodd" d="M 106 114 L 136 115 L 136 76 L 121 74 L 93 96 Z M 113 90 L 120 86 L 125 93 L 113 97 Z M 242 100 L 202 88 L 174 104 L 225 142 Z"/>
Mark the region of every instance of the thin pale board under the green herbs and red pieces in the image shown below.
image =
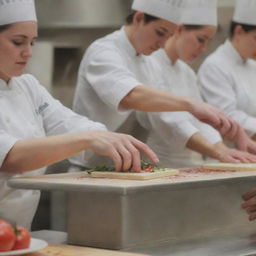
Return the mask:
<path id="1" fill-rule="evenodd" d="M 176 175 L 178 173 L 179 170 L 176 169 L 164 169 L 163 171 L 157 172 L 92 172 L 90 175 L 93 178 L 152 180 Z"/>

